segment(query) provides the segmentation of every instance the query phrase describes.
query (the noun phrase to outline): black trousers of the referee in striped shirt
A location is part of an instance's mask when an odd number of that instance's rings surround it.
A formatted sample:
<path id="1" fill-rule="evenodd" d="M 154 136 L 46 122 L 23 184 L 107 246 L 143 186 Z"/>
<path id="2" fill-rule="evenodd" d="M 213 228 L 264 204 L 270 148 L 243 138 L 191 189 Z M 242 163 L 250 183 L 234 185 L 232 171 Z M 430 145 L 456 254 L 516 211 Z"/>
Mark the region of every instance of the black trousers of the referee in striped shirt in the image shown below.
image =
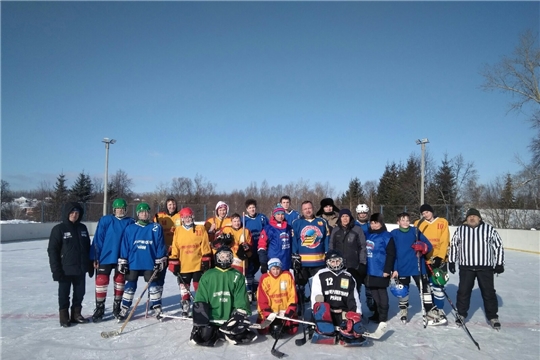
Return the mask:
<path id="1" fill-rule="evenodd" d="M 458 313 L 467 317 L 469 306 L 471 303 L 471 293 L 474 287 L 474 281 L 478 279 L 480 293 L 484 300 L 484 311 L 488 320 L 497 318 L 499 311 L 499 303 L 497 295 L 495 295 L 495 286 L 493 282 L 493 269 L 473 269 L 468 267 L 459 268 L 459 286 L 457 293 L 457 310 Z"/>

